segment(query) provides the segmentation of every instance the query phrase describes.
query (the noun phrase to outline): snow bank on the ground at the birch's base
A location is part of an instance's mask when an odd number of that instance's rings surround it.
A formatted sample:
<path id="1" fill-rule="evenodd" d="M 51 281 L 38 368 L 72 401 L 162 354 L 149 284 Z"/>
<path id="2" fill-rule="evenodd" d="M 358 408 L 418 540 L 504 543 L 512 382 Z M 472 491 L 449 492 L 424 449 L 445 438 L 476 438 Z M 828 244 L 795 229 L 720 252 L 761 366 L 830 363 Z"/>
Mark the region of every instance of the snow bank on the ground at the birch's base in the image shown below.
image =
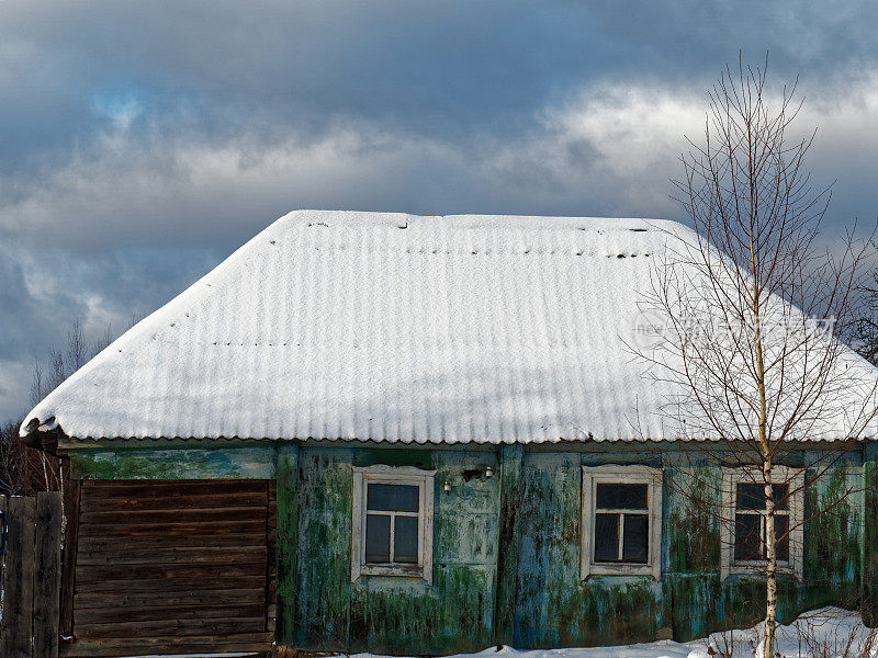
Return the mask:
<path id="1" fill-rule="evenodd" d="M 731 634 L 714 633 L 709 638 L 686 644 L 662 640 L 618 647 L 532 651 L 503 647 L 451 658 L 752 658 L 762 635 L 763 626 L 759 624 Z M 789 626 L 780 626 L 777 638 L 776 650 L 783 658 L 878 658 L 878 632 L 866 628 L 859 615 L 838 608 L 804 613 Z M 382 657 L 357 654 L 350 658 Z"/>

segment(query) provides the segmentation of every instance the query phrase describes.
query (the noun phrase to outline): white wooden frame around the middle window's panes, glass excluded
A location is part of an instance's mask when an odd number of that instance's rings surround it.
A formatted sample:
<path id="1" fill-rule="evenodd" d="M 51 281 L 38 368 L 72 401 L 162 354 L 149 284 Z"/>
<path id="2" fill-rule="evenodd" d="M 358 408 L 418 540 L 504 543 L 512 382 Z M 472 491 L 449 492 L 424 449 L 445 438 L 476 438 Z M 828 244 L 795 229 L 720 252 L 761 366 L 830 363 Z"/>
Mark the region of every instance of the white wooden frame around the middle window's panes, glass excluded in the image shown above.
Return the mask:
<path id="1" fill-rule="evenodd" d="M 595 494 L 598 484 L 646 485 L 650 518 L 646 564 L 596 563 L 594 560 Z M 662 470 L 649 466 L 583 466 L 583 522 L 579 576 L 652 576 L 662 577 Z"/>

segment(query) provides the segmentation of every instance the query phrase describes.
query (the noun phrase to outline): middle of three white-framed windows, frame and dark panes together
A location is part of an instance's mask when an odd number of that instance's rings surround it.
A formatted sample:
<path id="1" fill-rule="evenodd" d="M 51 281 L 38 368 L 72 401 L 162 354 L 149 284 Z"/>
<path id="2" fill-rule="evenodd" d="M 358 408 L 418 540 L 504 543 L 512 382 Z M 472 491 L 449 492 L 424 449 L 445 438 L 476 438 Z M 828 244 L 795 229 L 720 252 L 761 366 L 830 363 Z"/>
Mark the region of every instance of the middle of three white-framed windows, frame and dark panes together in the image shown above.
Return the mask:
<path id="1" fill-rule="evenodd" d="M 662 472 L 583 467 L 581 575 L 662 574 Z"/>

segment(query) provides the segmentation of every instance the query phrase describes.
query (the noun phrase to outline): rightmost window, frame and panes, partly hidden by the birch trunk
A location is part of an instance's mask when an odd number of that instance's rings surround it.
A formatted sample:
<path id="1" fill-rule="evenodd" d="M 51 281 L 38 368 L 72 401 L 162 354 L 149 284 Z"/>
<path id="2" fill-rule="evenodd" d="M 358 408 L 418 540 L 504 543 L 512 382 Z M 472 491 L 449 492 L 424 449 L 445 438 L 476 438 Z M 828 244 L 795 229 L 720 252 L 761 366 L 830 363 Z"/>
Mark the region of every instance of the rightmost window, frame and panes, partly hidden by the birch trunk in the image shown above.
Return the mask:
<path id="1" fill-rule="evenodd" d="M 804 474 L 784 466 L 774 467 L 779 484 L 773 486 L 778 570 L 802 577 L 802 485 Z M 730 574 L 765 571 L 765 486 L 755 468 L 723 470 L 722 564 L 723 578 Z M 792 529 L 792 530 L 790 530 Z M 784 536 L 786 535 L 786 536 Z"/>

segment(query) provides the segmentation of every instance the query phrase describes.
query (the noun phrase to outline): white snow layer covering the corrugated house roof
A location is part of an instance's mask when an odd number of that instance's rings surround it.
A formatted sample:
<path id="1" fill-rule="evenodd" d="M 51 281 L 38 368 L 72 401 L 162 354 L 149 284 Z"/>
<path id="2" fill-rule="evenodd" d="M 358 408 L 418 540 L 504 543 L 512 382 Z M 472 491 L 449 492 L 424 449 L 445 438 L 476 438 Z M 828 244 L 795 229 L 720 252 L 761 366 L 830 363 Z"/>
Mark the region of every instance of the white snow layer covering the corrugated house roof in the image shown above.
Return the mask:
<path id="1" fill-rule="evenodd" d="M 627 348 L 671 222 L 300 211 L 27 416 L 71 438 L 672 439 Z M 635 428 L 637 424 L 637 428 Z"/>

